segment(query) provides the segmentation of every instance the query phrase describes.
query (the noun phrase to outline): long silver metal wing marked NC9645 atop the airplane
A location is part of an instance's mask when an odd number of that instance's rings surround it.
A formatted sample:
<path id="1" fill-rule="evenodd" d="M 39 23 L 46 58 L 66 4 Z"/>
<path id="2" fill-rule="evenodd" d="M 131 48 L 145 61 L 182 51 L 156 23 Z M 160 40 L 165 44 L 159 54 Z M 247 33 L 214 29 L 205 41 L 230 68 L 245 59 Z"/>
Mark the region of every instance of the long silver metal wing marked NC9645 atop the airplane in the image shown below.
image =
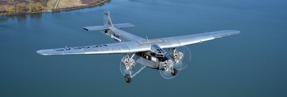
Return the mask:
<path id="1" fill-rule="evenodd" d="M 60 48 L 50 50 L 39 50 L 42 55 L 73 55 L 73 54 L 119 54 L 149 51 L 152 44 L 157 44 L 162 49 L 182 47 L 212 39 L 222 38 L 238 34 L 237 30 L 224 30 L 210 33 L 201 33 L 187 36 L 176 36 L 160 39 L 149 39 L 149 41 L 131 41 L 113 44 L 101 44 L 83 47 Z"/>

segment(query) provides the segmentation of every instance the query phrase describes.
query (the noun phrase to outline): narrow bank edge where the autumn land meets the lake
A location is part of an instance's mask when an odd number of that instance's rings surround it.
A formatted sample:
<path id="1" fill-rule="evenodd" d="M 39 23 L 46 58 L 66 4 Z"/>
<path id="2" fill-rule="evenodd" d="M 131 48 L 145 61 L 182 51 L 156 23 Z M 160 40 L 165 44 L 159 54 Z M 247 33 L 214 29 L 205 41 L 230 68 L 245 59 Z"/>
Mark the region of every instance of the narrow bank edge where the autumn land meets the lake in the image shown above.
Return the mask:
<path id="1" fill-rule="evenodd" d="M 0 16 L 7 16 L 7 15 L 16 15 L 16 14 L 25 14 L 25 13 L 43 13 L 43 12 L 54 12 L 54 11 L 62 11 L 62 10 L 72 10 L 72 9 L 78 9 L 78 8 L 85 8 L 85 7 L 93 7 L 93 6 L 96 6 L 98 4 L 101 4 L 103 2 L 106 2 L 106 1 L 109 1 L 109 0 L 95 0 L 95 1 L 92 1 L 90 2 L 89 4 L 87 5 L 81 5 L 81 6 L 72 6 L 72 7 L 58 7 L 56 9 L 52 9 L 52 10 L 41 10 L 39 12 L 30 12 L 30 11 L 26 11 L 26 12 L 22 12 L 22 13 L 6 13 L 6 14 L 3 14 L 3 15 L 0 15 Z M 57 5 L 56 5 L 57 6 Z"/>

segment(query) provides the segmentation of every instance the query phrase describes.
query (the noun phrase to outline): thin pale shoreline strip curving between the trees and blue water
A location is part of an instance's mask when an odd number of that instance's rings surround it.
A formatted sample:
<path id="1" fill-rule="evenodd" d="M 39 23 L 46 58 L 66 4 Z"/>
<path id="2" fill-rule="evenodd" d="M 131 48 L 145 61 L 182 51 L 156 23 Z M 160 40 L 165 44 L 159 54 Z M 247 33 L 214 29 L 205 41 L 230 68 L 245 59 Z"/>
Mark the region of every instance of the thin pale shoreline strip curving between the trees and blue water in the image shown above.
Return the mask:
<path id="1" fill-rule="evenodd" d="M 26 12 L 26 13 L 16 13 L 16 14 L 7 14 L 7 15 L 0 15 L 0 16 L 9 16 L 9 15 L 18 15 L 18 14 L 27 14 L 27 13 L 44 13 L 44 12 L 56 12 L 56 11 L 64 11 L 64 10 L 73 10 L 73 9 L 80 9 L 80 8 L 86 8 L 86 7 L 93 7 L 93 6 L 96 6 L 98 4 L 101 4 L 103 2 L 106 2 L 106 1 L 109 1 L 109 0 L 105 0 L 105 1 L 102 1 L 100 3 L 97 3 L 97 4 L 94 4 L 94 5 L 91 5 L 91 6 L 85 6 L 85 7 L 80 7 L 80 6 L 74 6 L 74 7 L 77 7 L 77 8 L 68 8 L 68 7 L 65 7 L 67 9 L 63 9 L 63 10 L 42 10 L 42 11 L 39 11 L 39 12 Z"/>

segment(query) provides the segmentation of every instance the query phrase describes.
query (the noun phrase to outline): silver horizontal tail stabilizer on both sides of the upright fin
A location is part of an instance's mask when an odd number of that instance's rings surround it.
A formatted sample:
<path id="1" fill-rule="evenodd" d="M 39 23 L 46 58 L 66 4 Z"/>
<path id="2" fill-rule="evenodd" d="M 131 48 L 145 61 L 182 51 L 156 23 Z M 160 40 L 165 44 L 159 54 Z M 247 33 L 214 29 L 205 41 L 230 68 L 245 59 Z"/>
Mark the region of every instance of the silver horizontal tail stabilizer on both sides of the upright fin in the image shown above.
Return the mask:
<path id="1" fill-rule="evenodd" d="M 123 24 L 113 24 L 115 28 L 121 28 L 121 27 L 134 27 L 135 25 L 129 24 L 129 23 L 123 23 Z M 109 26 L 91 26 L 91 27 L 83 27 L 87 31 L 91 30 L 103 30 L 103 29 L 110 29 Z"/>

